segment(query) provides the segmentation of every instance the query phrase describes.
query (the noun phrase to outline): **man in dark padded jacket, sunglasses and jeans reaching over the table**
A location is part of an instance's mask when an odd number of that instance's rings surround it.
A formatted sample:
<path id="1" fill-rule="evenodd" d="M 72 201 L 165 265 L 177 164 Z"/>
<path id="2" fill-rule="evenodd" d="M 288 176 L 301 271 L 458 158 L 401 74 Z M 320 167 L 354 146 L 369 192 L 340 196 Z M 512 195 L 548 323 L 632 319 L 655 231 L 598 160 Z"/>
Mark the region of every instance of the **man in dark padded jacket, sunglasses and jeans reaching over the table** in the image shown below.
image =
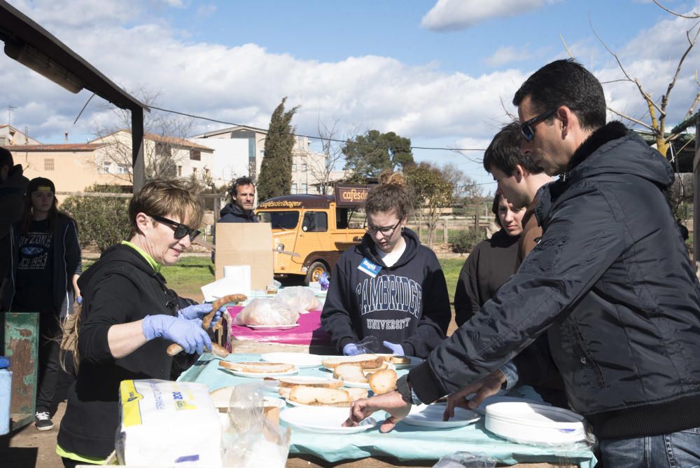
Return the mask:
<path id="1" fill-rule="evenodd" d="M 601 84 L 571 60 L 536 71 L 514 104 L 521 151 L 561 175 L 539 194 L 542 240 L 398 392 L 356 402 L 348 424 L 381 408 L 389 430 L 412 402 L 475 382 L 547 332 L 551 355 L 516 358 L 519 377 L 542 380 L 556 364 L 605 466 L 700 464 L 700 284 L 664 196 L 671 165 L 605 124 Z"/>

